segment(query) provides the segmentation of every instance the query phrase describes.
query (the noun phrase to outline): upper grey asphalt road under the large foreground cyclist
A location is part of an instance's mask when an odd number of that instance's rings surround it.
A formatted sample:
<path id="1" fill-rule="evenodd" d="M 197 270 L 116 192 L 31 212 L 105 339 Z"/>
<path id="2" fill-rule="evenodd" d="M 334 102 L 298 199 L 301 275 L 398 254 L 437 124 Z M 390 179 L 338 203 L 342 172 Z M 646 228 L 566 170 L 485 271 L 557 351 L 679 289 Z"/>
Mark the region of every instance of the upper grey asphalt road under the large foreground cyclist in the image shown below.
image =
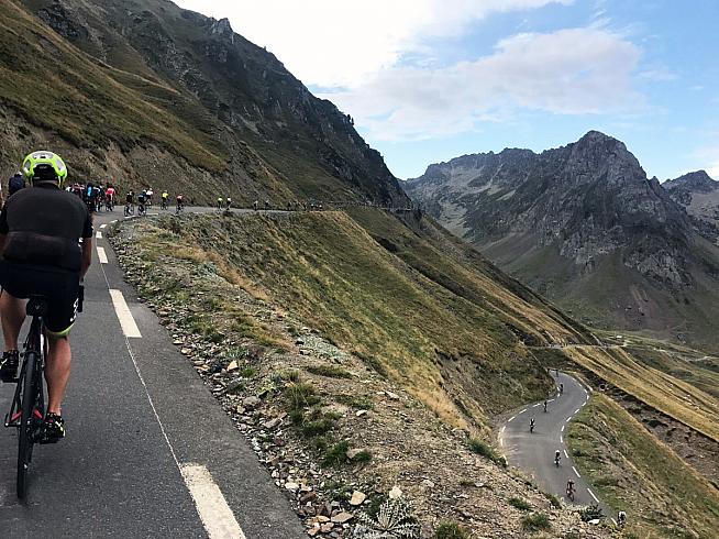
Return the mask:
<path id="1" fill-rule="evenodd" d="M 100 235 L 122 210 L 98 216 Z M 107 263 L 96 249 L 73 330 L 68 436 L 36 447 L 21 504 L 16 432 L 0 429 L 0 538 L 307 537 L 172 336 L 123 282 L 107 240 L 95 241 Z M 0 385 L 2 417 L 13 391 Z"/>

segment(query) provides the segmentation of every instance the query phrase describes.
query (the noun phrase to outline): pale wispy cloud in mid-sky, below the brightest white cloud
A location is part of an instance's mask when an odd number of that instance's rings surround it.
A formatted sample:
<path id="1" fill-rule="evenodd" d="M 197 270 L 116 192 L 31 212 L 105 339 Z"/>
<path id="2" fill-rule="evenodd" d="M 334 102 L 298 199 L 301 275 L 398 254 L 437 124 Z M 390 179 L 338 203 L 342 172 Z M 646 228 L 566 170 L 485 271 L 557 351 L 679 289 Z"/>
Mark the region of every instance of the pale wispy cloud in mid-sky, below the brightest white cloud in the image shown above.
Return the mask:
<path id="1" fill-rule="evenodd" d="M 471 131 L 521 109 L 562 114 L 622 112 L 642 97 L 631 87 L 640 52 L 587 28 L 519 34 L 494 53 L 451 67 L 394 67 L 367 84 L 325 95 L 374 140 L 412 140 Z"/>

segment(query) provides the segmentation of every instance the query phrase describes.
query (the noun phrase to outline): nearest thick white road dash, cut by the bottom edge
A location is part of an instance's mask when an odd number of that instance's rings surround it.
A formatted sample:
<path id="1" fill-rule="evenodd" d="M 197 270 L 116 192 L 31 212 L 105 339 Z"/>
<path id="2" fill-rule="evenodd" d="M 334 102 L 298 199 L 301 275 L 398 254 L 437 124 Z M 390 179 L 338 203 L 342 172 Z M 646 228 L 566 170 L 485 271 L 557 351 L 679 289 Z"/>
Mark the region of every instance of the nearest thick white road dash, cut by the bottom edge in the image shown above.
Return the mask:
<path id="1" fill-rule="evenodd" d="M 208 469 L 181 464 L 180 471 L 210 539 L 247 539 Z"/>

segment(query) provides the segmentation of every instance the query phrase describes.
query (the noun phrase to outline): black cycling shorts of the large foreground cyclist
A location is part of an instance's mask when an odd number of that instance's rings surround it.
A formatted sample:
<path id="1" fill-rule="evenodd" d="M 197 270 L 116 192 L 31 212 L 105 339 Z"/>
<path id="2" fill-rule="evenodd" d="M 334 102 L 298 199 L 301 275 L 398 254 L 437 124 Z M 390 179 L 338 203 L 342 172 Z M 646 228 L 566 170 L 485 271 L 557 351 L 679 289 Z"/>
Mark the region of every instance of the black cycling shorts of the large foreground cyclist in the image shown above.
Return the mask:
<path id="1" fill-rule="evenodd" d="M 54 267 L 30 266 L 0 261 L 2 294 L 20 299 L 40 295 L 47 298 L 45 328 L 54 336 L 70 332 L 77 318 L 80 275 Z"/>

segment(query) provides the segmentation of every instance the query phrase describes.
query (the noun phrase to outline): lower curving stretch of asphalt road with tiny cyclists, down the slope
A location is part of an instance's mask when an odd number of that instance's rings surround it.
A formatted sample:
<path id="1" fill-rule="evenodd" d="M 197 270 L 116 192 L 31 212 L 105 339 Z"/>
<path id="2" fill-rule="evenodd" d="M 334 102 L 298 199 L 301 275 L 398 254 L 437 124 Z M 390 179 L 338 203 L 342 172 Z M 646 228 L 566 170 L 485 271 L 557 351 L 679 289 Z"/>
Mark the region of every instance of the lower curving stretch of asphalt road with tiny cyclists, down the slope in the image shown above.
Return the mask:
<path id="1" fill-rule="evenodd" d="M 544 492 L 556 494 L 567 504 L 566 484 L 574 481 L 576 490 L 574 504 L 600 504 L 584 477 L 574 466 L 566 449 L 566 428 L 569 420 L 589 400 L 585 386 L 572 376 L 560 372 L 552 375 L 557 391 L 547 400 L 546 413 L 543 403 L 535 403 L 512 416 L 499 432 L 499 443 L 510 464 L 529 473 Z M 560 394 L 560 384 L 564 392 Z M 534 418 L 534 433 L 530 433 L 530 419 Z M 560 450 L 561 461 L 554 464 L 554 452 Z M 600 504 L 607 515 L 607 509 Z"/>

